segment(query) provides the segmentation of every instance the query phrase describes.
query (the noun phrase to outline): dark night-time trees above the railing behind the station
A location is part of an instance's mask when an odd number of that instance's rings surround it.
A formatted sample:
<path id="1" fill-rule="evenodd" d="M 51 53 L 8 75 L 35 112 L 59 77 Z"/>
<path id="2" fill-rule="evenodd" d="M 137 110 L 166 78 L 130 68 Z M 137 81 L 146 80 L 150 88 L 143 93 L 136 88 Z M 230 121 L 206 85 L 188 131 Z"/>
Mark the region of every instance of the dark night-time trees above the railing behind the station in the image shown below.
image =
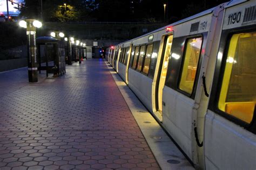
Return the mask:
<path id="1" fill-rule="evenodd" d="M 63 4 L 66 3 L 77 12 L 77 17 L 74 17 L 73 21 L 163 22 L 163 4 L 166 4 L 166 22 L 172 23 L 227 0 L 42 0 L 42 2 L 44 21 L 59 21 L 56 11 L 63 8 Z M 21 16 L 41 17 L 41 0 L 24 0 L 24 3 L 26 7 L 21 9 Z M 68 21 L 72 19 L 69 18 Z"/>

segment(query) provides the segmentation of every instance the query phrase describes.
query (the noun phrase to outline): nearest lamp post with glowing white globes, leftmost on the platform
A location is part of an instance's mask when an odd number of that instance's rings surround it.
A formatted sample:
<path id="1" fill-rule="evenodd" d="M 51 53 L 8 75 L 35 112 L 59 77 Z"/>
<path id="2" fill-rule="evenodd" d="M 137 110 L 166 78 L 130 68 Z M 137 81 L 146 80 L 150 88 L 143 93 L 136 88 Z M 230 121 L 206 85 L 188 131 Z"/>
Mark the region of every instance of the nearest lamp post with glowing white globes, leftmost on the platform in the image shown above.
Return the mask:
<path id="1" fill-rule="evenodd" d="M 28 73 L 29 82 L 37 82 L 37 49 L 36 49 L 36 28 L 41 28 L 42 23 L 35 19 L 20 21 L 19 26 L 26 28 L 26 38 L 28 40 Z"/>

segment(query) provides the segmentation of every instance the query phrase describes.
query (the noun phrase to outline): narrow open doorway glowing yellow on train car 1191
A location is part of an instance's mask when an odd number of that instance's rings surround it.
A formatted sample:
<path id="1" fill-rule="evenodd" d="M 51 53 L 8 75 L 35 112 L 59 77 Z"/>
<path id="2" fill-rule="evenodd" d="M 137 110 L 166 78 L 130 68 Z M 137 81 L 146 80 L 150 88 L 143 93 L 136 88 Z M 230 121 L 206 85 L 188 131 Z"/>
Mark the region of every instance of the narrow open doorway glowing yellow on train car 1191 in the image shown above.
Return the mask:
<path id="1" fill-rule="evenodd" d="M 158 117 L 158 119 L 160 121 L 163 120 L 162 98 L 163 98 L 163 89 L 164 89 L 164 85 L 165 85 L 167 67 L 169 64 L 169 58 L 170 58 L 170 54 L 171 54 L 172 39 L 173 39 L 173 35 L 168 35 L 168 36 L 165 36 L 165 38 L 164 38 L 164 45 L 163 45 L 164 47 L 163 47 L 163 52 L 161 53 L 163 57 L 161 57 L 161 59 L 160 59 L 158 77 L 157 77 L 157 81 L 156 81 L 156 91 L 155 91 L 156 111 L 154 112 L 154 114 Z"/>

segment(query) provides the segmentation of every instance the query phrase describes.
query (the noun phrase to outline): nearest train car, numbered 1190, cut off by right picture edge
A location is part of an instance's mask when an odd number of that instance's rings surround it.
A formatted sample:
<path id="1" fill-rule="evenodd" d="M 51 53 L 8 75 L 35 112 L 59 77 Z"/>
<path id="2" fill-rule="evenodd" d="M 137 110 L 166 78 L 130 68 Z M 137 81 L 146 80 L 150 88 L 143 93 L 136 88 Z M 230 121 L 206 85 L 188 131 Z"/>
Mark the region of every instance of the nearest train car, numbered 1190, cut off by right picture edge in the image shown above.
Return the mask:
<path id="1" fill-rule="evenodd" d="M 255 169 L 256 1 L 226 9 L 205 117 L 206 169 Z"/>

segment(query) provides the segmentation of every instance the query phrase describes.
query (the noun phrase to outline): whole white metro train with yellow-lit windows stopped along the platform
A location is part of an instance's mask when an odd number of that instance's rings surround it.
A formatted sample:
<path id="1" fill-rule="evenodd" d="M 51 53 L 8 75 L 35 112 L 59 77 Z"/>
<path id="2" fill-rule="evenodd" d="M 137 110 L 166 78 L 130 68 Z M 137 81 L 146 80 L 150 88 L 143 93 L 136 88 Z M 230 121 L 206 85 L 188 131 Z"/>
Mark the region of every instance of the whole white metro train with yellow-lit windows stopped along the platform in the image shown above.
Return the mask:
<path id="1" fill-rule="evenodd" d="M 194 167 L 256 168 L 256 0 L 220 4 L 107 50 Z"/>

